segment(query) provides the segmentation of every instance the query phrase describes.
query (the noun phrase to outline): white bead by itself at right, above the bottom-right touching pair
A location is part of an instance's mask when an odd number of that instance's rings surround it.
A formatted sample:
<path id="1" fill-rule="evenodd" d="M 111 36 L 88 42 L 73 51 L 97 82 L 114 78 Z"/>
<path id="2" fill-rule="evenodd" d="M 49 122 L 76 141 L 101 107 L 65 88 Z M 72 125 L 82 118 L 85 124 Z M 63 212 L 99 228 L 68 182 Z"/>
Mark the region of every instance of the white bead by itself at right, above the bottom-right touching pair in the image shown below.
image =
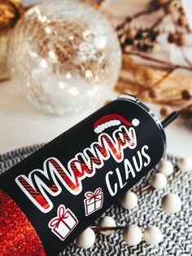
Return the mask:
<path id="1" fill-rule="evenodd" d="M 181 199 L 176 194 L 168 193 L 161 199 L 161 206 L 167 214 L 176 214 L 181 210 Z"/>

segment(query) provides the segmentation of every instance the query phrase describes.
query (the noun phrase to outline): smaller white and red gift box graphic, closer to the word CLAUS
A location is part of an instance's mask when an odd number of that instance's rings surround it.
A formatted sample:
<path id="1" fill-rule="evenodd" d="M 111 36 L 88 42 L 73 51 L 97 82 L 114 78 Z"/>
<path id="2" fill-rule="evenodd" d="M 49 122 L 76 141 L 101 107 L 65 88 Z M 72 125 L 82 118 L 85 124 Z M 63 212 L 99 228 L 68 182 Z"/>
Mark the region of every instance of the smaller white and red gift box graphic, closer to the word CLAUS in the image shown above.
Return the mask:
<path id="1" fill-rule="evenodd" d="M 85 215 L 93 214 L 103 206 L 103 192 L 101 188 L 97 188 L 95 192 L 85 192 Z"/>

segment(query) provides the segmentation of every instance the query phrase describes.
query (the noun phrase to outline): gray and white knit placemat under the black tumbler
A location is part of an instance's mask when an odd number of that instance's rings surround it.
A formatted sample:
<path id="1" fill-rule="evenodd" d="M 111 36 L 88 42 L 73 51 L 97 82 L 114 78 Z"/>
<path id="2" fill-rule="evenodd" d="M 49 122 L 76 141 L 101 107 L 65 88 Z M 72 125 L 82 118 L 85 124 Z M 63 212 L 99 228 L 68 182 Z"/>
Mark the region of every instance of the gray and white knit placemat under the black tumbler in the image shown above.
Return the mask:
<path id="1" fill-rule="evenodd" d="M 7 154 L 0 155 L 0 173 L 15 165 L 20 160 L 36 151 L 41 145 L 20 148 Z M 175 166 L 177 171 L 176 157 L 166 156 Z M 134 188 L 142 188 L 151 177 L 149 173 Z M 137 246 L 128 246 L 122 239 L 122 232 L 115 232 L 111 236 L 96 235 L 96 242 L 90 249 L 80 249 L 75 243 L 68 245 L 60 255 L 118 255 L 118 256 L 190 256 L 192 255 L 192 170 L 181 174 L 179 179 L 174 180 L 162 190 L 142 192 L 138 196 L 138 205 L 133 210 L 124 210 L 117 202 L 105 213 L 116 219 L 118 225 L 129 223 L 146 223 L 160 210 L 161 197 L 173 192 L 181 197 L 182 208 L 177 214 L 161 214 L 155 219 L 155 224 L 164 233 L 164 241 L 156 246 L 146 245 L 144 241 Z M 94 223 L 94 225 L 97 222 Z"/>

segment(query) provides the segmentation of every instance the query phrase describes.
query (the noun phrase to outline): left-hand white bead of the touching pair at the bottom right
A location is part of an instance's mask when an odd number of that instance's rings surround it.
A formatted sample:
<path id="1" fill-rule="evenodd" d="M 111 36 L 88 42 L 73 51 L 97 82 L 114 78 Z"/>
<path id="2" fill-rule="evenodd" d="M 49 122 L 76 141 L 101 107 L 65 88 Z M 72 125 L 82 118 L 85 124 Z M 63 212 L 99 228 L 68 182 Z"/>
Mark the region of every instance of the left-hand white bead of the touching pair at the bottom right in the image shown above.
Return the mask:
<path id="1" fill-rule="evenodd" d="M 138 245 L 142 241 L 142 229 L 135 224 L 124 227 L 123 239 L 129 246 Z"/>

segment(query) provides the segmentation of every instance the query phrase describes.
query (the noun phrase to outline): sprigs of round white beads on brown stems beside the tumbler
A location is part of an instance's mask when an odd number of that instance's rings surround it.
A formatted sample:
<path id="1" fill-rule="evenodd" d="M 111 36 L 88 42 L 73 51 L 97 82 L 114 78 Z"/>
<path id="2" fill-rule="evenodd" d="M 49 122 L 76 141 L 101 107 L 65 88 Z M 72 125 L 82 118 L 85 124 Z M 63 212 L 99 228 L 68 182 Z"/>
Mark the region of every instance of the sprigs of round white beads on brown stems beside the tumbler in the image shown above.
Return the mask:
<path id="1" fill-rule="evenodd" d="M 192 159 L 191 158 L 180 158 L 177 161 L 179 170 L 177 171 L 176 177 L 182 172 L 192 170 Z M 148 190 L 149 188 L 161 189 L 165 188 L 167 183 L 170 183 L 172 179 L 168 180 L 167 177 L 173 172 L 173 166 L 170 161 L 162 160 L 157 167 L 157 172 L 151 178 L 149 185 L 144 188 L 137 189 L 135 191 L 129 191 L 124 194 L 120 200 L 120 204 L 125 210 L 132 210 L 137 206 L 137 193 Z M 76 244 L 81 248 L 88 249 L 94 245 L 95 233 L 100 232 L 105 236 L 111 235 L 114 231 L 123 231 L 123 240 L 128 246 L 138 245 L 142 239 L 147 245 L 159 245 L 163 241 L 163 234 L 159 227 L 151 226 L 150 223 L 155 221 L 155 218 L 162 214 L 177 214 L 181 210 L 181 199 L 176 194 L 168 192 L 161 199 L 162 210 L 155 215 L 154 218 L 149 220 L 147 223 L 142 225 L 129 224 L 126 226 L 116 226 L 116 221 L 110 216 L 101 218 L 98 227 L 88 227 L 85 232 L 82 232 L 76 239 Z"/>

